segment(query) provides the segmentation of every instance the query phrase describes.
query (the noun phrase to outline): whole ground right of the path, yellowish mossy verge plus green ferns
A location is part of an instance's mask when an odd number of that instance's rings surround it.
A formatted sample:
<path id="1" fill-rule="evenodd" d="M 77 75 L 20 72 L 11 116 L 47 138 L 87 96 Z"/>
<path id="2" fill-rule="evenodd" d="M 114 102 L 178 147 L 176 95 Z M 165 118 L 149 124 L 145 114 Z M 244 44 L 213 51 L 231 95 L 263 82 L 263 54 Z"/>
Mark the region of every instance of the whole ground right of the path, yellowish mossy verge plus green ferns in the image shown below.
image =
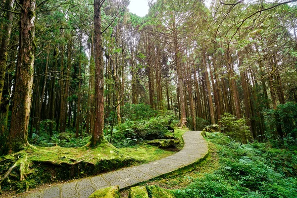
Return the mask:
<path id="1" fill-rule="evenodd" d="M 222 133 L 206 133 L 209 155 L 191 169 L 154 178 L 175 198 L 297 198 L 297 150 L 267 143 L 241 145 Z M 128 198 L 129 189 L 121 198 Z"/>

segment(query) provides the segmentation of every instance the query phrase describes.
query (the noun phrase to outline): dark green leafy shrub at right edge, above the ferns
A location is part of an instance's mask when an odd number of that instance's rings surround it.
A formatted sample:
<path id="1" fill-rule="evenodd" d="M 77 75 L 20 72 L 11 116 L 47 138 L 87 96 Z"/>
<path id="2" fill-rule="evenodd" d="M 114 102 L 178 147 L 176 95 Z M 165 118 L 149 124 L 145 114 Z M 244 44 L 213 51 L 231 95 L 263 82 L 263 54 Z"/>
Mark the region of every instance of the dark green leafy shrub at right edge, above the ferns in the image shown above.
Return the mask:
<path id="1" fill-rule="evenodd" d="M 277 135 L 277 125 L 281 126 L 284 139 L 280 140 Z M 280 104 L 276 109 L 265 112 L 265 136 L 274 146 L 286 148 L 297 147 L 297 103 L 287 102 Z"/>

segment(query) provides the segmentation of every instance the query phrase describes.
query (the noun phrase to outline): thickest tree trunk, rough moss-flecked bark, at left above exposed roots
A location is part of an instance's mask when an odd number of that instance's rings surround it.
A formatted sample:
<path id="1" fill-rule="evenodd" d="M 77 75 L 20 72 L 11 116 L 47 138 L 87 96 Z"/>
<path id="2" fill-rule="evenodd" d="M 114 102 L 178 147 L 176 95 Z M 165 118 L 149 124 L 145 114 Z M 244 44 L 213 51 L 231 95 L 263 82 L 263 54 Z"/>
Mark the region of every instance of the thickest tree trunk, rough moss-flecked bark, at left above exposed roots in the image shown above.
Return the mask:
<path id="1" fill-rule="evenodd" d="M 35 58 L 35 0 L 23 0 L 20 20 L 20 41 L 15 76 L 15 95 L 10 130 L 4 153 L 28 146 L 28 125 L 32 98 Z"/>

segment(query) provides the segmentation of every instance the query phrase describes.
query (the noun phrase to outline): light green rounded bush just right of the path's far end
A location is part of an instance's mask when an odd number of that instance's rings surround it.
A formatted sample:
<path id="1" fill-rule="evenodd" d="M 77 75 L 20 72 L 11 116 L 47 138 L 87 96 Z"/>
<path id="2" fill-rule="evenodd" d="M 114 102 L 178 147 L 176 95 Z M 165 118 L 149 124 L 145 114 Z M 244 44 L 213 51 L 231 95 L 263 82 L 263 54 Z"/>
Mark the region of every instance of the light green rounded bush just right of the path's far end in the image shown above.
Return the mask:
<path id="1" fill-rule="evenodd" d="M 246 119 L 238 119 L 230 113 L 224 113 L 220 119 L 222 129 L 226 135 L 230 137 L 230 142 L 236 141 L 246 144 L 247 140 L 251 139 L 251 133 L 246 125 Z"/>

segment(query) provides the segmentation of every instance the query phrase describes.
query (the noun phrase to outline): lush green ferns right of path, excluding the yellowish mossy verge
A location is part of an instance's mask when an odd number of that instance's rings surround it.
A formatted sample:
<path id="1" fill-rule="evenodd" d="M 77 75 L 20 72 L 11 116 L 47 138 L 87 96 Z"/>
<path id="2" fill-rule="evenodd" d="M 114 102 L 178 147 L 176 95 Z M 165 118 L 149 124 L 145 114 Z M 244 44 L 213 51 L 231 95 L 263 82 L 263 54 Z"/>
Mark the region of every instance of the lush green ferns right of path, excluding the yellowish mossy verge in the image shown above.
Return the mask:
<path id="1" fill-rule="evenodd" d="M 206 134 L 216 144 L 220 168 L 191 178 L 193 182 L 186 189 L 175 191 L 176 198 L 297 197 L 296 151 L 270 148 L 264 143 L 226 144 L 224 134 Z M 290 167 L 290 174 L 283 171 L 286 167 Z"/>

